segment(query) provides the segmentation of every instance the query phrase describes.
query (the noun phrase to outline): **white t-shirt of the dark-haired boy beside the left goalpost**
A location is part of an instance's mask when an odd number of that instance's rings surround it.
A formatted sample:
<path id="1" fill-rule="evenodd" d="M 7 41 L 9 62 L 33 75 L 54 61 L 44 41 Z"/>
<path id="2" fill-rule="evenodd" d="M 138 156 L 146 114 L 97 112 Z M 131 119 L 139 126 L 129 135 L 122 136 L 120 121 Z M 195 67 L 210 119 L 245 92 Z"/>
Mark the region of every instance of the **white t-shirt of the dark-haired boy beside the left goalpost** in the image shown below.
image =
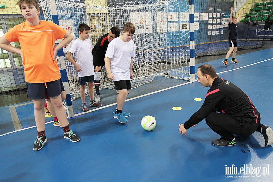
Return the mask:
<path id="1" fill-rule="evenodd" d="M 95 74 L 92 55 L 93 48 L 94 47 L 90 39 L 86 39 L 85 41 L 76 39 L 69 49 L 69 52 L 76 54 L 76 62 L 82 69 L 80 72 L 78 72 L 79 77 L 91 76 Z"/>

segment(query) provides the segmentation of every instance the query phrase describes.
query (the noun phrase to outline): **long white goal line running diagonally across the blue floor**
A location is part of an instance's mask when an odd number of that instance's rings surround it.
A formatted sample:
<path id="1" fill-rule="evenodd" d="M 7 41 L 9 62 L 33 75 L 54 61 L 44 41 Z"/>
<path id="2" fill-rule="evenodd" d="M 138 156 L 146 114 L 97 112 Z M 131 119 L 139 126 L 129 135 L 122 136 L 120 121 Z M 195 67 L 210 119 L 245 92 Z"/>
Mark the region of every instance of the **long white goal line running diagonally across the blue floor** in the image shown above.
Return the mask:
<path id="1" fill-rule="evenodd" d="M 273 58 L 271 58 L 273 59 Z M 248 66 L 252 66 L 252 65 L 255 65 L 255 64 L 258 64 L 258 63 L 261 63 L 261 62 L 265 62 L 265 61 L 269 61 L 271 59 L 266 59 L 266 60 L 263 60 L 263 61 L 260 61 L 260 62 L 255 62 L 253 64 L 250 64 L 250 65 L 246 65 L 246 66 L 242 66 L 240 68 L 235 68 L 235 69 L 231 69 L 231 70 L 227 70 L 227 71 L 223 71 L 223 72 L 219 72 L 217 73 L 218 74 L 221 74 L 221 73 L 225 73 L 225 72 L 230 72 L 230 71 L 234 71 L 234 70 L 237 70 L 237 69 L 241 69 L 241 68 L 245 68 L 245 67 L 248 67 Z M 196 82 L 198 79 L 195 79 L 194 82 Z M 169 90 L 169 89 L 173 89 L 173 88 L 176 88 L 176 87 L 179 87 L 179 86 L 183 86 L 183 85 L 186 85 L 186 84 L 189 84 L 189 83 L 194 83 L 194 82 L 187 82 L 187 83 L 182 83 L 180 85 L 176 85 L 176 86 L 172 86 L 172 87 L 169 87 L 169 88 L 166 88 L 166 89 L 161 89 L 161 90 L 157 90 L 155 92 L 151 92 L 151 93 L 147 93 L 147 94 L 144 94 L 144 95 L 141 95 L 141 96 L 136 96 L 136 97 L 133 97 L 131 99 L 126 99 L 125 102 L 127 101 L 130 101 L 130 100 L 134 100 L 134 99 L 138 99 L 138 98 L 141 98 L 141 97 L 144 97 L 144 96 L 148 96 L 148 95 L 151 95 L 151 94 L 154 94 L 154 93 L 159 93 L 159 92 L 162 92 L 162 91 L 165 91 L 165 90 Z M 103 106 L 103 107 L 99 107 L 99 108 L 96 108 L 96 109 L 93 109 L 93 110 L 89 110 L 87 112 L 83 112 L 83 113 L 78 113 L 78 114 L 75 114 L 75 116 L 80 116 L 80 115 L 83 115 L 83 114 L 87 114 L 87 113 L 90 113 L 90 112 L 94 112 L 96 110 L 101 110 L 103 108 L 106 108 L 106 107 L 110 107 L 110 106 L 114 106 L 116 105 L 116 103 L 113 103 L 113 104 L 109 104 L 107 106 Z M 53 121 L 49 121 L 49 122 L 46 122 L 45 124 L 48 124 L 48 123 L 52 123 Z M 30 129 L 30 128 L 34 128 L 36 126 L 31 126 L 31 127 L 27 127 L 27 128 L 23 128 L 23 129 L 20 129 L 20 130 L 15 130 L 15 131 L 12 131 L 12 132 L 8 132 L 8 133 L 5 133 L 5 134 L 2 134 L 0 136 L 4 136 L 4 135 L 7 135 L 7 134 L 10 134 L 10 133 L 15 133 L 15 132 L 18 132 L 18 131 L 22 131 L 22 130 L 27 130 L 27 129 Z"/>

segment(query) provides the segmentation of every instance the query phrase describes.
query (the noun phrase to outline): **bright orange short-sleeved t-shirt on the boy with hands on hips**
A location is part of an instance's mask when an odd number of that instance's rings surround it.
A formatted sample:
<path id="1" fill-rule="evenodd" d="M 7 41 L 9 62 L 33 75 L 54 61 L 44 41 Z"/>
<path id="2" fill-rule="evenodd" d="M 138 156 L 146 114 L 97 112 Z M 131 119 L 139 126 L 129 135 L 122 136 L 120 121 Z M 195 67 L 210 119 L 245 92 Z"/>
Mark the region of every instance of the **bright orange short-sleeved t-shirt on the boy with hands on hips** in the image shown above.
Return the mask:
<path id="1" fill-rule="evenodd" d="M 37 26 L 23 22 L 5 33 L 9 42 L 19 42 L 21 45 L 26 82 L 46 83 L 61 78 L 57 61 L 52 58 L 55 41 L 65 34 L 65 29 L 44 20 Z"/>

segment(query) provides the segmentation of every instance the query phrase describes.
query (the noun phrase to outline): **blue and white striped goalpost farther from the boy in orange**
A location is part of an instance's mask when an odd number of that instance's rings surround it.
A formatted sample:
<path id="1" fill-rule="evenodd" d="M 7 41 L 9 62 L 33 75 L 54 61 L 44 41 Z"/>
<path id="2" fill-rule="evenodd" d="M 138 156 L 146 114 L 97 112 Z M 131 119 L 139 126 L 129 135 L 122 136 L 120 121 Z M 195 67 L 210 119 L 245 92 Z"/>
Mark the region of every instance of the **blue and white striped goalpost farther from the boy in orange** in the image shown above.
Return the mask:
<path id="1" fill-rule="evenodd" d="M 190 13 L 190 82 L 194 82 L 195 70 L 194 70 L 194 0 L 189 2 Z"/>

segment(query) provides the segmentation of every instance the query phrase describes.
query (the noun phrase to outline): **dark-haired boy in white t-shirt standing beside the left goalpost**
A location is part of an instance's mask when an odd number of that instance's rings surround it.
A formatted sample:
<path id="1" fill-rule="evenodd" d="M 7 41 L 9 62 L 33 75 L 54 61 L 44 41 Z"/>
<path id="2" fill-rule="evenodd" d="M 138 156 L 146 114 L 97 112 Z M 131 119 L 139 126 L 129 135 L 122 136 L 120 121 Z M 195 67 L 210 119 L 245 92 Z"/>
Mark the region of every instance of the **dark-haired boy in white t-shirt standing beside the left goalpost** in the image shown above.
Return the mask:
<path id="1" fill-rule="evenodd" d="M 79 38 L 76 39 L 66 54 L 67 59 L 75 66 L 79 76 L 80 95 L 83 102 L 82 109 L 88 111 L 85 101 L 86 83 L 90 96 L 90 106 L 102 106 L 94 100 L 94 66 L 92 49 L 94 48 L 89 39 L 90 27 L 85 23 L 79 24 Z M 77 63 L 72 59 L 72 54 L 76 54 Z"/>

